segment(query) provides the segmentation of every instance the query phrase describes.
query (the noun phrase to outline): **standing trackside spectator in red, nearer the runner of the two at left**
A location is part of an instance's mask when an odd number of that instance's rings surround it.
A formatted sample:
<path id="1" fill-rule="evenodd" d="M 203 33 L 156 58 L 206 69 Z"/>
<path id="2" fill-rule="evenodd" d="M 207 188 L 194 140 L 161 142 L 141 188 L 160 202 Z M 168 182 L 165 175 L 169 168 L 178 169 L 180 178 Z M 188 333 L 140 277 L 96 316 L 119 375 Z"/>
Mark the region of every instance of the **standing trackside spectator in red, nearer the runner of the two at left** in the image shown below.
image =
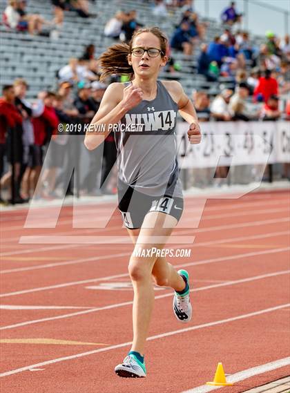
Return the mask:
<path id="1" fill-rule="evenodd" d="M 37 184 L 39 175 L 41 172 L 41 166 L 43 163 L 42 151 L 43 146 L 50 141 L 51 137 L 54 137 L 57 133 L 57 126 L 59 125 L 59 118 L 55 112 L 55 108 L 52 106 L 52 102 L 55 99 L 55 93 L 52 92 L 41 92 L 38 95 L 39 99 L 43 99 L 43 113 L 39 117 L 32 119 L 32 124 L 35 132 L 35 149 L 37 151 L 37 160 L 35 166 L 31 168 L 30 173 L 30 184 L 33 182 L 35 195 L 39 196 L 41 184 Z"/>

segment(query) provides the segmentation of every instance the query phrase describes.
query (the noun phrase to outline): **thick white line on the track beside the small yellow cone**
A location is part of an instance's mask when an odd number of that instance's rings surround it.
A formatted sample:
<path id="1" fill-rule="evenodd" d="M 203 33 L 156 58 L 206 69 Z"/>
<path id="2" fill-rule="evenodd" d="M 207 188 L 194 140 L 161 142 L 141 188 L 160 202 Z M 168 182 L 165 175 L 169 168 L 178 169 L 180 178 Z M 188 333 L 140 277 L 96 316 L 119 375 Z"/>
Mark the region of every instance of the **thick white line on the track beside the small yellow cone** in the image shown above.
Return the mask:
<path id="1" fill-rule="evenodd" d="M 270 363 L 265 363 L 264 365 L 258 365 L 256 367 L 248 368 L 247 370 L 243 370 L 240 372 L 235 372 L 235 374 L 231 374 L 226 377 L 226 380 L 232 383 L 244 381 L 244 379 L 251 378 L 252 376 L 258 374 L 264 374 L 265 372 L 269 372 L 272 370 L 276 370 L 281 367 L 285 367 L 290 365 L 290 357 L 282 358 L 278 361 L 273 361 Z M 209 386 L 209 385 L 201 385 L 198 387 L 194 387 L 193 389 L 185 390 L 182 393 L 207 393 L 212 390 L 220 389 L 222 386 Z"/>

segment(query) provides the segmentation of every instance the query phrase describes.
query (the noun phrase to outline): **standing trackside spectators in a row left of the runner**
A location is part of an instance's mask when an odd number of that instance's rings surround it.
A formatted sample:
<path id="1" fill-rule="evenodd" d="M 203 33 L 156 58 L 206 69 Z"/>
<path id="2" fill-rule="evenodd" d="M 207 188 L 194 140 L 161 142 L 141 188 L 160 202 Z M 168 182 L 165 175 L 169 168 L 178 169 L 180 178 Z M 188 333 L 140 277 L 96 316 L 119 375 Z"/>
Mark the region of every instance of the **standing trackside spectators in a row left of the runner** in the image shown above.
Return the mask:
<path id="1" fill-rule="evenodd" d="M 76 88 L 74 86 L 69 81 L 60 82 L 56 91 L 41 91 L 32 103 L 26 100 L 28 84 L 24 79 L 15 79 L 13 85 L 3 86 L 0 98 L 0 197 L 6 191 L 6 200 L 11 198 L 12 173 L 17 203 L 28 201 L 32 195 L 48 199 L 72 195 L 72 180 L 69 184 L 66 180 L 70 179 L 71 163 L 79 157 L 81 148 L 80 140 L 74 136 L 84 137 L 85 125 L 93 119 L 107 85 L 99 81 L 83 81 Z M 63 127 L 60 132 L 59 124 Z M 76 127 L 68 131 L 66 125 L 74 124 Z M 80 192 L 85 195 L 115 193 L 114 181 L 107 178 L 117 154 L 112 135 L 95 151 L 86 153 L 89 171 L 86 178 L 80 179 Z M 45 155 L 46 166 L 41 172 Z M 5 158 L 8 171 L 3 173 Z M 61 190 L 59 194 L 55 193 L 56 186 Z"/>

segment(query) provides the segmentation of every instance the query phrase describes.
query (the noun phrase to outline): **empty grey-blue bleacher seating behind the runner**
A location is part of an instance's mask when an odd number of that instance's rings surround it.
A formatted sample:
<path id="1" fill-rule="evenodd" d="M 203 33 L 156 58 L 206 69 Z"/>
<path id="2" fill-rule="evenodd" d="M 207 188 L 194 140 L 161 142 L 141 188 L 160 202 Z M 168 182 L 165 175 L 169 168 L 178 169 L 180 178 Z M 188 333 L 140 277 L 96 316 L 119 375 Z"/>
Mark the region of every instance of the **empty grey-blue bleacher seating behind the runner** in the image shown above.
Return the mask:
<path id="1" fill-rule="evenodd" d="M 6 7 L 6 0 L 0 0 L 0 12 Z M 0 25 L 1 59 L 0 59 L 0 87 L 10 84 L 16 77 L 23 77 L 30 85 L 28 99 L 37 96 L 39 90 L 49 90 L 55 86 L 55 73 L 68 63 L 70 57 L 80 57 L 84 47 L 95 44 L 96 57 L 114 41 L 104 36 L 106 21 L 113 17 L 116 10 L 137 10 L 138 20 L 146 26 L 159 26 L 170 37 L 175 24 L 180 21 L 181 11 L 175 10 L 167 18 L 156 17 L 148 10 L 148 4 L 133 0 L 98 0 L 90 8 L 97 13 L 97 17 L 81 19 L 74 12 L 66 11 L 64 26 L 59 31 L 58 39 L 52 37 L 31 36 L 26 32 L 16 32 L 3 23 Z M 52 6 L 50 1 L 30 0 L 28 12 L 42 15 L 52 20 Z M 215 35 L 220 35 L 222 27 L 211 20 L 206 30 L 206 41 L 211 41 Z M 162 73 L 160 77 L 179 79 L 187 94 L 193 89 L 207 90 L 209 95 L 219 92 L 219 84 L 206 82 L 203 75 L 196 73 L 196 58 L 199 48 L 195 48 L 195 55 L 187 58 L 182 52 L 173 50 L 172 55 L 181 65 L 181 71 L 176 74 Z M 227 84 L 225 79 L 220 80 Z"/>

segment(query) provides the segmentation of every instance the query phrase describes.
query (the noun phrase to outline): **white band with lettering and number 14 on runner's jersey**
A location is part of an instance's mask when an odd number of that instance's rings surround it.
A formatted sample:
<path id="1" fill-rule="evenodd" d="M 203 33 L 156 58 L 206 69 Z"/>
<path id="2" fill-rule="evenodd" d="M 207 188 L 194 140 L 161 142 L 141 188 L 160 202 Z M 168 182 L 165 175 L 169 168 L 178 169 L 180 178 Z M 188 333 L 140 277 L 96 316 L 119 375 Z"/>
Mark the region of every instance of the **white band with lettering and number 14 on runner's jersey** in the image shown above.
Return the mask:
<path id="1" fill-rule="evenodd" d="M 154 107 L 147 109 L 154 109 Z M 175 126 L 175 118 L 176 112 L 173 110 L 125 115 L 126 124 L 143 124 L 142 131 L 170 130 Z"/>

